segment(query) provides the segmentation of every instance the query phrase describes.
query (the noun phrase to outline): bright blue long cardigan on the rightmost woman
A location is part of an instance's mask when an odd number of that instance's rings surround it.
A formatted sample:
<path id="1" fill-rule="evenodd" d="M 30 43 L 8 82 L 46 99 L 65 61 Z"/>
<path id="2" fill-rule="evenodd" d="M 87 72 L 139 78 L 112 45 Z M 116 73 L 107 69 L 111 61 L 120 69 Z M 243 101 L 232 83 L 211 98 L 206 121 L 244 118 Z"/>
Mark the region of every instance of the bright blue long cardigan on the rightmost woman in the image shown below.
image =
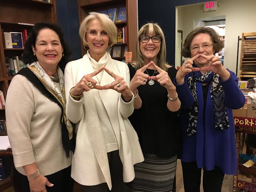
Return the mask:
<path id="1" fill-rule="evenodd" d="M 228 70 L 228 69 L 227 69 Z M 197 133 L 192 136 L 186 134 L 186 114 L 195 99 L 190 93 L 187 78 L 194 75 L 193 72 L 185 77 L 185 82 L 174 85 L 181 101 L 182 113 L 180 115 L 182 129 L 182 162 L 197 162 L 198 168 L 213 170 L 214 166 L 219 166 L 226 174 L 234 174 L 237 169 L 235 125 L 232 109 L 239 109 L 245 104 L 245 97 L 238 88 L 238 79 L 234 72 L 230 72 L 230 77 L 225 82 L 221 81 L 224 90 L 224 99 L 229 117 L 229 128 L 219 130 L 214 128 L 213 102 L 211 100 L 210 89 L 208 88 L 205 117 L 203 117 L 203 91 L 202 83 L 196 82 L 196 92 L 198 98 L 198 118 Z"/>

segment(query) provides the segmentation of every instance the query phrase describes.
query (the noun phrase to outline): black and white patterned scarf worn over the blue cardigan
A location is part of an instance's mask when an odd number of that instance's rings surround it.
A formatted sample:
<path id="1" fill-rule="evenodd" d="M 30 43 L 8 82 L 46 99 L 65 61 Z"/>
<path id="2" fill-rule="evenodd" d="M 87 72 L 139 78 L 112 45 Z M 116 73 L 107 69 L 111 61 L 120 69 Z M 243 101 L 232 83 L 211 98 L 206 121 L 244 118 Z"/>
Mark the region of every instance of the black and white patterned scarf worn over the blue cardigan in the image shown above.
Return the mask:
<path id="1" fill-rule="evenodd" d="M 198 100 L 196 93 L 196 81 L 202 83 L 211 83 L 211 100 L 213 102 L 214 127 L 220 130 L 229 128 L 229 119 L 224 102 L 224 91 L 219 83 L 219 75 L 211 71 L 207 71 L 204 75 L 200 71 L 194 72 L 192 77 L 188 78 L 190 91 L 195 99 L 193 105 L 189 108 L 187 114 L 188 125 L 187 135 L 192 135 L 197 132 L 197 115 L 198 115 Z"/>

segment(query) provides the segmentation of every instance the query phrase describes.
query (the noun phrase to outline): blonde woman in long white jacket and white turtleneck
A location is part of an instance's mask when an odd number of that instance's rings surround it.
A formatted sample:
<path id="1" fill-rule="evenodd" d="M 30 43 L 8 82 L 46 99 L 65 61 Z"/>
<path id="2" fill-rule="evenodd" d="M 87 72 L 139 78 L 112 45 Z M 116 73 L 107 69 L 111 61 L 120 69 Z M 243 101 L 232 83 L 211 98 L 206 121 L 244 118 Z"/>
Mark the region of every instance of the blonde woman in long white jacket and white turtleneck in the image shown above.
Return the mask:
<path id="1" fill-rule="evenodd" d="M 90 13 L 79 29 L 87 54 L 65 69 L 66 114 L 76 123 L 71 176 L 86 192 L 123 192 L 144 160 L 128 117 L 134 95 L 128 66 L 111 59 L 107 47 L 117 29 L 105 14 Z"/>

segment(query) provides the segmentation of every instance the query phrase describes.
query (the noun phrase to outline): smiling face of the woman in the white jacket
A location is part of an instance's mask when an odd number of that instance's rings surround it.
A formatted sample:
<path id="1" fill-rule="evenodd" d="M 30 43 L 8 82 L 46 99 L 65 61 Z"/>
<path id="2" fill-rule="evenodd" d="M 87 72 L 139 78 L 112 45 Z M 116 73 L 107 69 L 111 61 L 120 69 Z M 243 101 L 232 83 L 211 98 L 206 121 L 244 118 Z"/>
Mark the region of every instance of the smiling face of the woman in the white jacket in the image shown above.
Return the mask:
<path id="1" fill-rule="evenodd" d="M 93 59 L 98 60 L 97 58 L 100 59 L 105 54 L 109 44 L 109 37 L 99 19 L 93 19 L 88 22 L 85 41 L 88 43 L 89 53 Z"/>

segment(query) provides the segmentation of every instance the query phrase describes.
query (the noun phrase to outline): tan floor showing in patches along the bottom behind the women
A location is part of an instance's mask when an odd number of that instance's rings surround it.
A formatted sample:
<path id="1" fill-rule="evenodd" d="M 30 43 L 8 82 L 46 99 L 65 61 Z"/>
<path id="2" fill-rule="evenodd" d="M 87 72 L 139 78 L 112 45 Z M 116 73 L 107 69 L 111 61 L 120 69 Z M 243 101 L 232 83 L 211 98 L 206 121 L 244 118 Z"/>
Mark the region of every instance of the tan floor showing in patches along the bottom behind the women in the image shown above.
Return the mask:
<path id="1" fill-rule="evenodd" d="M 232 189 L 233 189 L 233 176 L 225 175 L 221 192 L 232 192 Z M 202 182 L 201 182 L 201 190 L 200 191 L 203 192 Z M 9 189 L 4 190 L 3 192 L 14 192 L 14 189 L 11 187 Z M 74 192 L 80 192 L 80 187 L 78 185 L 75 185 Z M 182 179 L 182 168 L 181 168 L 180 160 L 178 160 L 178 162 L 177 162 L 176 192 L 184 192 L 183 179 Z"/>

